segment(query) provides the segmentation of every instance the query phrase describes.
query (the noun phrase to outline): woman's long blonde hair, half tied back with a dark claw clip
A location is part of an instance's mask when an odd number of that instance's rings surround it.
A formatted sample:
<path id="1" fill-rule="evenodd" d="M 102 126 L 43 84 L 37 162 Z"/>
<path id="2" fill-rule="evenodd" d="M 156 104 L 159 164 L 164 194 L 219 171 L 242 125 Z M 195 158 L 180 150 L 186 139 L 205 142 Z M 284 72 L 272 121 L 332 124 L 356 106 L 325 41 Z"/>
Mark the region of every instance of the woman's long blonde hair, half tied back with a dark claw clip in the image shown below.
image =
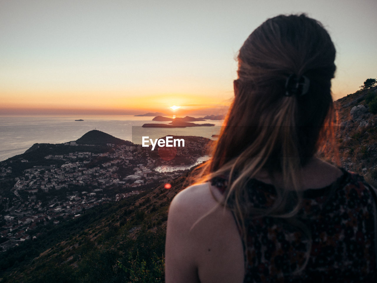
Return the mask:
<path id="1" fill-rule="evenodd" d="M 245 214 L 293 217 L 288 193 L 300 200 L 300 168 L 327 139 L 333 123 L 331 78 L 335 48 L 318 21 L 302 15 L 279 15 L 256 28 L 238 54 L 234 101 L 201 181 L 228 177 L 224 205 L 233 210 L 245 232 Z M 287 79 L 305 76 L 307 93 L 286 96 Z M 282 175 L 276 201 L 268 209 L 248 205 L 246 184 L 258 172 Z M 244 233 L 245 235 L 245 233 Z"/>

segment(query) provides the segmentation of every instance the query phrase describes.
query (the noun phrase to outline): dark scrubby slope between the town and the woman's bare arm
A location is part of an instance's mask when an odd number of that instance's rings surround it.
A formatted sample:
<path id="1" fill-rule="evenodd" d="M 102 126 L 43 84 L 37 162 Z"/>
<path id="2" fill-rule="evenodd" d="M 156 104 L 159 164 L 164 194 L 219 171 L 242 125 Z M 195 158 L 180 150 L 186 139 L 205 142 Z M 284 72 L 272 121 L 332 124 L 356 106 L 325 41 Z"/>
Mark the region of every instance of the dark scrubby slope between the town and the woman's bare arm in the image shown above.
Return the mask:
<path id="1" fill-rule="evenodd" d="M 46 237 L 10 249 L 0 267 L 15 263 L 1 282 L 142 282 L 146 274 L 164 282 L 167 210 L 188 174 L 170 181 L 170 189 L 162 184 L 91 209 Z"/>

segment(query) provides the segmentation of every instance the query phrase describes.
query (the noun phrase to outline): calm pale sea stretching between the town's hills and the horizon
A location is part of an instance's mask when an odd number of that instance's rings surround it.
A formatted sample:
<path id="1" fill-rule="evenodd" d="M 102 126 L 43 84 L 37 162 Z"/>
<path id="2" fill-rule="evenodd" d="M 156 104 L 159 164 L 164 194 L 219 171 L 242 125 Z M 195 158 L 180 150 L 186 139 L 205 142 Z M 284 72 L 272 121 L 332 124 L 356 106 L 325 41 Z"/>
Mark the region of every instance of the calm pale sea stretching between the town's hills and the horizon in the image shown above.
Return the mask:
<path id="1" fill-rule="evenodd" d="M 169 116 L 166 116 L 169 117 Z M 171 117 L 171 116 L 170 116 Z M 174 116 L 173 116 L 174 117 Z M 75 121 L 75 120 L 84 121 Z M 213 138 L 220 132 L 222 120 L 193 122 L 211 123 L 212 127 L 142 128 L 155 122 L 153 117 L 133 115 L 103 115 L 80 117 L 0 117 L 0 161 L 24 153 L 34 143 L 65 143 L 74 141 L 86 132 L 97 129 L 122 140 L 141 144 L 142 137 L 161 138 L 166 135 L 191 135 Z"/>

